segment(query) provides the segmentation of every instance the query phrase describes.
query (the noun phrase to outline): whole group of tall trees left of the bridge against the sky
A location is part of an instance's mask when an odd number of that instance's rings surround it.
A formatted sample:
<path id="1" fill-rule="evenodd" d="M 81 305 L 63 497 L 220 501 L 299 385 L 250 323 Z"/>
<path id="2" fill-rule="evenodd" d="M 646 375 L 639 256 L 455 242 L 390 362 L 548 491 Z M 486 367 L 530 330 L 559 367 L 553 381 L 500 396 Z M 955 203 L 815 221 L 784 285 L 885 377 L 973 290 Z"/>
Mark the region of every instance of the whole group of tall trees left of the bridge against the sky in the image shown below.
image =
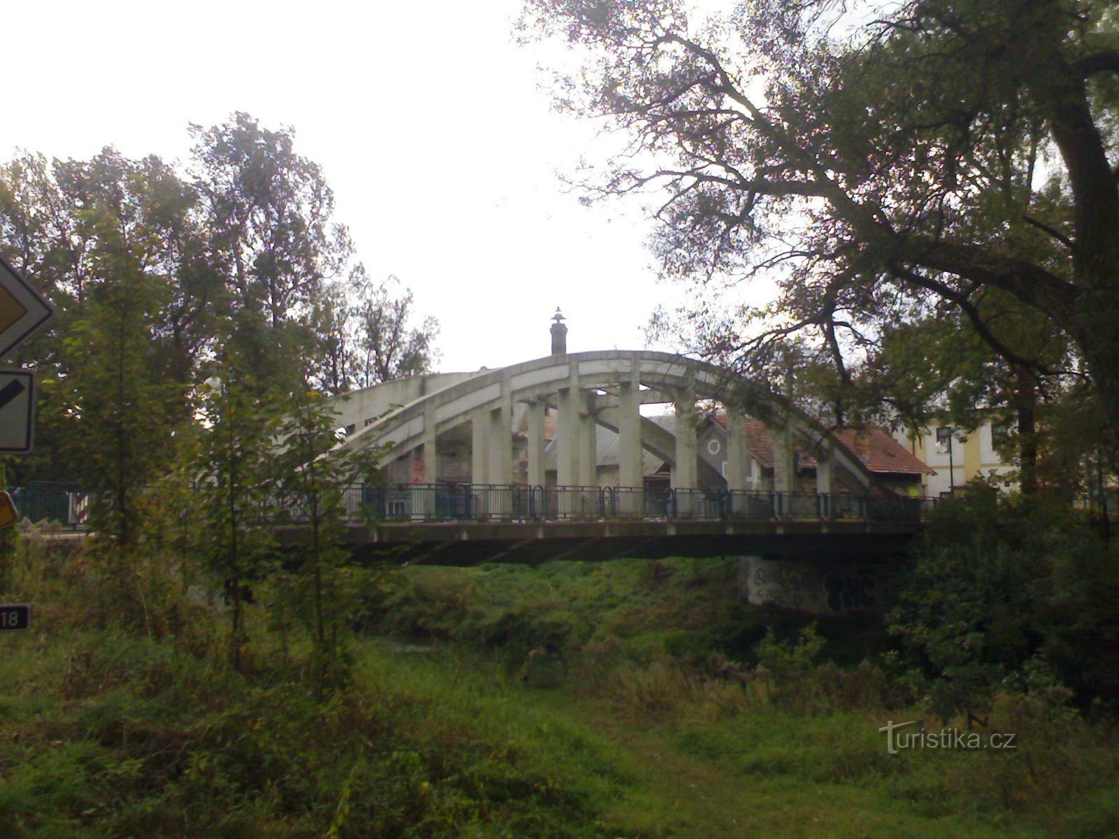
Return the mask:
<path id="1" fill-rule="evenodd" d="M 13 357 L 37 368 L 39 398 L 12 484 L 106 490 L 98 515 L 117 537 L 132 538 L 135 488 L 170 469 L 215 364 L 262 396 L 309 378 L 338 393 L 435 357 L 438 324 L 413 324 L 394 277 L 368 280 L 293 131 L 237 113 L 191 134 L 188 172 L 112 148 L 0 164 L 0 252 L 56 310 Z"/>

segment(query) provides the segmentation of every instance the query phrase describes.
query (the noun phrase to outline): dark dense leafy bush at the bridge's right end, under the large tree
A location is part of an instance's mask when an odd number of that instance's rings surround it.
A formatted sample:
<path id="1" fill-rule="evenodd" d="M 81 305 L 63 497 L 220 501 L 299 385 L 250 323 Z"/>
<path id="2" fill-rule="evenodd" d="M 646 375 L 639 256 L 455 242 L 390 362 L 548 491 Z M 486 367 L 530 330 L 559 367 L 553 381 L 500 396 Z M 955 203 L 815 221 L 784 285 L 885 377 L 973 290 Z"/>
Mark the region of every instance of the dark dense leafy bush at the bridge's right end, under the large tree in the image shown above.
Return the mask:
<path id="1" fill-rule="evenodd" d="M 930 677 L 933 710 L 982 710 L 1007 685 L 1057 704 L 1070 691 L 1082 707 L 1112 703 L 1115 562 L 1115 549 L 1060 507 L 984 484 L 940 505 L 890 616 Z"/>

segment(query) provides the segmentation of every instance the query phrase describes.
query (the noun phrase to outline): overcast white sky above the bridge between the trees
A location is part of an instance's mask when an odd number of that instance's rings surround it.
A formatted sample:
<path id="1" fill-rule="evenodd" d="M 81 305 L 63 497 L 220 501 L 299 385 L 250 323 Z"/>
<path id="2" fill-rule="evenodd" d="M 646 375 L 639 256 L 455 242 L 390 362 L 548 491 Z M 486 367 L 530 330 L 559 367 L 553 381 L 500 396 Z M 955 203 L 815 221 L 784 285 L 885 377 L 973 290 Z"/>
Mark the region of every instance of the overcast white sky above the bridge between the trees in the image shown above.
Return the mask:
<path id="1" fill-rule="evenodd" d="M 655 283 L 636 208 L 581 207 L 555 177 L 593 129 L 551 112 L 518 8 L 9 3 L 0 154 L 184 160 L 188 123 L 246 111 L 295 129 L 370 275 L 439 319 L 441 369 L 546 355 L 557 305 L 571 351 L 642 348 L 678 292 Z"/>

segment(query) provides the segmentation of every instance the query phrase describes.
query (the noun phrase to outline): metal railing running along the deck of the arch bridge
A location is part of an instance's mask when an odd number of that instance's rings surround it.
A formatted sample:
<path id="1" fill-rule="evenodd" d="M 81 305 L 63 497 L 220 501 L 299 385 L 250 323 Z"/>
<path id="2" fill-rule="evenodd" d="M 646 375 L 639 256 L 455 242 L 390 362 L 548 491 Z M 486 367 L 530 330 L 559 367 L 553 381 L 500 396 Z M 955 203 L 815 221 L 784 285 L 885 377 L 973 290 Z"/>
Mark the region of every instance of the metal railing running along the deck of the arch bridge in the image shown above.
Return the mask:
<path id="1" fill-rule="evenodd" d="M 711 491 L 649 487 L 527 487 L 523 484 L 399 484 L 350 487 L 351 520 L 596 521 L 862 520 L 916 521 L 932 499 L 847 493 Z M 292 520 L 298 510 L 290 510 Z"/>

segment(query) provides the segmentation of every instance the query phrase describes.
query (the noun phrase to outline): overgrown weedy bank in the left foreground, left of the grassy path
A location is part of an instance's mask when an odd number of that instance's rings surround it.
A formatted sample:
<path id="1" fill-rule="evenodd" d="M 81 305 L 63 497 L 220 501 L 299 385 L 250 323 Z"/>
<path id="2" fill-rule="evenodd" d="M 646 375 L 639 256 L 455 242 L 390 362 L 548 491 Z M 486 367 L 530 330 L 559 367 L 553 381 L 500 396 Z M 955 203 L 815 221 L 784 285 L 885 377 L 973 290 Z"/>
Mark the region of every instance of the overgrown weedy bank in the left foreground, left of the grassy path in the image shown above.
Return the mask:
<path id="1" fill-rule="evenodd" d="M 294 669 L 195 649 L 167 591 L 150 635 L 90 626 L 100 579 L 79 553 L 36 547 L 17 585 L 43 606 L 0 662 L 6 837 L 591 837 L 626 783 L 593 735 L 442 663 L 366 648 L 320 697 Z M 217 632 L 220 610 L 187 611 Z"/>

